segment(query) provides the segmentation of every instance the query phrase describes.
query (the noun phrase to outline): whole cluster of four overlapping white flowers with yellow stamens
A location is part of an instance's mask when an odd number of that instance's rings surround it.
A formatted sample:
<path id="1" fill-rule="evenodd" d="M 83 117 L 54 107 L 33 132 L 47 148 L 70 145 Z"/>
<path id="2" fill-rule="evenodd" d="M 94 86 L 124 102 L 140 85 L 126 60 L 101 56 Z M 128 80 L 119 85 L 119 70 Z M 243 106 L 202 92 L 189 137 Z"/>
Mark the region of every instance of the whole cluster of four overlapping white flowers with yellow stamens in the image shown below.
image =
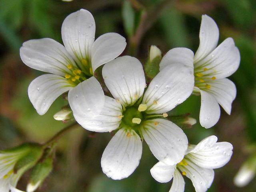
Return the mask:
<path id="1" fill-rule="evenodd" d="M 230 114 L 236 87 L 226 77 L 240 63 L 232 38 L 217 46 L 218 27 L 212 18 L 203 15 L 196 54 L 188 48 L 168 51 L 160 61 L 160 72 L 147 85 L 138 59 L 118 57 L 126 47 L 124 37 L 107 33 L 94 41 L 94 34 L 92 14 L 81 9 L 62 24 L 64 46 L 49 38 L 24 42 L 20 49 L 22 61 L 50 73 L 33 80 L 28 88 L 38 114 L 44 114 L 58 96 L 69 91 L 70 108 L 82 127 L 94 132 L 116 132 L 101 159 L 108 177 L 120 180 L 130 176 L 140 162 L 145 140 L 159 160 L 150 170 L 157 181 L 173 178 L 170 191 L 183 192 L 185 175 L 197 192 L 205 192 L 214 178 L 212 169 L 230 160 L 232 145 L 216 142 L 216 136 L 190 145 L 182 129 L 166 117 L 192 93 L 201 95 L 203 127 L 218 122 L 219 104 Z M 161 51 L 153 47 L 150 61 L 159 55 Z M 103 64 L 102 77 L 112 97 L 104 95 L 93 76 Z"/>

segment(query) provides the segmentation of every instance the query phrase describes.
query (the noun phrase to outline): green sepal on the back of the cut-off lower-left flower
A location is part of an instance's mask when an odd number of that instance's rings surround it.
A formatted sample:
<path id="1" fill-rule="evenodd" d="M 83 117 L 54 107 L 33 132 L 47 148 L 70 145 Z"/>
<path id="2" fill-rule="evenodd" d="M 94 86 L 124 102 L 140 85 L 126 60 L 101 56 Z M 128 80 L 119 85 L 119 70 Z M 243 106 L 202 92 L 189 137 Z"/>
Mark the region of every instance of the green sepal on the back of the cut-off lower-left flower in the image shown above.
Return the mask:
<path id="1" fill-rule="evenodd" d="M 43 154 L 43 148 L 39 144 L 28 144 L 27 152 L 14 165 L 14 173 L 18 170 L 33 167 Z"/>

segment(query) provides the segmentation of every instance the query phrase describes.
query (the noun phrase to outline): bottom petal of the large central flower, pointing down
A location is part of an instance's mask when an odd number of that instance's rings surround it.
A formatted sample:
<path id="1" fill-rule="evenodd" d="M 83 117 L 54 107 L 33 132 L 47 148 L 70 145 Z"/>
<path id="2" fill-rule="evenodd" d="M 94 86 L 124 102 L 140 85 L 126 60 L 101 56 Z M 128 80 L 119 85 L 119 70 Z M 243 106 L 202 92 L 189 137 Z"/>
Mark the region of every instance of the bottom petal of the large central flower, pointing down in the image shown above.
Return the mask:
<path id="1" fill-rule="evenodd" d="M 142 155 L 142 142 L 134 130 L 118 130 L 110 140 L 101 158 L 102 171 L 114 180 L 130 176 Z"/>

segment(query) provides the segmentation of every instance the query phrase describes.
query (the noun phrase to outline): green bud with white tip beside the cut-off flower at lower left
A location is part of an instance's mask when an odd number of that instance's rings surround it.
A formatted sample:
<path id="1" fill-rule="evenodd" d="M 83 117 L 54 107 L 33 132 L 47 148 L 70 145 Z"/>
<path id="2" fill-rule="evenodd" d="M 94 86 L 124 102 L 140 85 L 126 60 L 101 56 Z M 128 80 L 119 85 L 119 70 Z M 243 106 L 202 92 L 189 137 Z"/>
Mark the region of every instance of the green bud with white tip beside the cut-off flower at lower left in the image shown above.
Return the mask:
<path id="1" fill-rule="evenodd" d="M 31 171 L 29 184 L 32 186 L 41 184 L 52 171 L 52 156 L 48 156 L 42 162 L 38 162 Z"/>

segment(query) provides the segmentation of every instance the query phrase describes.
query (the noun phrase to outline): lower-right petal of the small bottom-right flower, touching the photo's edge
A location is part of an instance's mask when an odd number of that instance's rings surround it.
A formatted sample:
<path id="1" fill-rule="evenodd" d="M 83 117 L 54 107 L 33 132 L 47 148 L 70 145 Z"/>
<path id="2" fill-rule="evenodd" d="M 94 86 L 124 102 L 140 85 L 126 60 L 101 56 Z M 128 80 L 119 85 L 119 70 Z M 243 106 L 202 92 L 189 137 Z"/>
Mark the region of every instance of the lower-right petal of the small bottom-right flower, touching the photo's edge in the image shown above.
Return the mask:
<path id="1" fill-rule="evenodd" d="M 206 192 L 207 189 L 210 188 L 214 179 L 213 169 L 202 168 L 188 159 L 186 159 L 186 162 L 188 165 L 178 165 L 178 168 L 182 172 L 186 172 L 186 176 L 192 181 L 196 192 Z"/>

